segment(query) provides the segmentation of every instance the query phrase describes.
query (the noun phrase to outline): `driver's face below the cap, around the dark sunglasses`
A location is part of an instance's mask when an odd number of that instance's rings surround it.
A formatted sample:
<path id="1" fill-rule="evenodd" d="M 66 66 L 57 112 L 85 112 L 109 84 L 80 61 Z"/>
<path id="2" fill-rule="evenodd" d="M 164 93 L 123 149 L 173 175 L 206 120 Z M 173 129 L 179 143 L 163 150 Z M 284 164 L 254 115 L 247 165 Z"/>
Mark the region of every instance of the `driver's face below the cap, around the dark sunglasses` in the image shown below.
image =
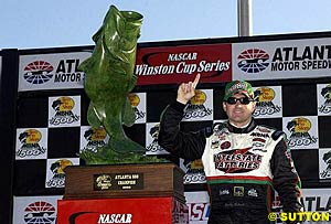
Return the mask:
<path id="1" fill-rule="evenodd" d="M 236 99 L 247 97 L 245 94 L 235 94 L 233 96 Z M 226 113 L 228 120 L 237 126 L 243 127 L 247 125 L 252 119 L 252 114 L 255 109 L 255 102 L 249 102 L 247 105 L 236 100 L 235 104 L 228 104 L 223 102 L 223 109 Z"/>

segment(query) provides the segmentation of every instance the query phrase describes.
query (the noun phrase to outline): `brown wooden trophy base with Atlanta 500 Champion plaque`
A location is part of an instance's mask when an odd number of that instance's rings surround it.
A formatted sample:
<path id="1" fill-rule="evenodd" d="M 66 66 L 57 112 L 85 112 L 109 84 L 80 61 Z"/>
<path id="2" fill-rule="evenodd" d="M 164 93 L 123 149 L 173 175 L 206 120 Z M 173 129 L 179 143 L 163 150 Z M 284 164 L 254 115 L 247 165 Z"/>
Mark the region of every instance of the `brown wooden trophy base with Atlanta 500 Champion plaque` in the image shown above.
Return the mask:
<path id="1" fill-rule="evenodd" d="M 174 196 L 185 203 L 183 177 L 173 163 L 68 166 L 63 199 Z"/>

